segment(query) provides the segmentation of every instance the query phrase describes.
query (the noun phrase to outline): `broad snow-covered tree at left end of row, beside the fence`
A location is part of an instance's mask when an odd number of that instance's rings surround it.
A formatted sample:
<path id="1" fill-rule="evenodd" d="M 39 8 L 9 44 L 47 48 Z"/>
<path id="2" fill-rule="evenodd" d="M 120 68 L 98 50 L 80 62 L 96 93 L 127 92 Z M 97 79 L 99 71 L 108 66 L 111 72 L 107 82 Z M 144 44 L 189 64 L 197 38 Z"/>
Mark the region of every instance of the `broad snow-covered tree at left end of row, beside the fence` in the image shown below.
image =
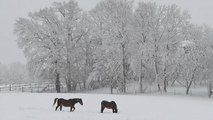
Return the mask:
<path id="1" fill-rule="evenodd" d="M 76 61 L 77 43 L 87 33 L 83 20 L 83 12 L 70 0 L 54 3 L 16 21 L 17 43 L 24 50 L 30 71 L 35 76 L 44 72 L 55 76 L 57 92 L 60 92 L 60 78 L 66 79 L 68 91 L 71 82 L 74 83 L 71 64 Z"/>

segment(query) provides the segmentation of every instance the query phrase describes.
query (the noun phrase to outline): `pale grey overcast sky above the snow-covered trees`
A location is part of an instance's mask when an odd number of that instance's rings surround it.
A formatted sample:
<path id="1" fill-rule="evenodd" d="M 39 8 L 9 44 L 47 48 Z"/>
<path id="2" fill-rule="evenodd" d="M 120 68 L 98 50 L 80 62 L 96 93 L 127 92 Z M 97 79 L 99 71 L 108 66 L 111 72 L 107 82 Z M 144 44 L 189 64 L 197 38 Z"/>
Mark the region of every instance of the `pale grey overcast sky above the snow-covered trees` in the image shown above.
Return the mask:
<path id="1" fill-rule="evenodd" d="M 50 6 L 54 1 L 69 0 L 0 0 L 0 63 L 26 63 L 22 51 L 15 42 L 13 34 L 15 20 L 26 17 L 29 12 L 38 11 Z M 83 10 L 90 10 L 101 0 L 76 0 Z M 154 1 L 159 4 L 177 4 L 186 9 L 192 16 L 192 22 L 198 25 L 207 24 L 213 27 L 213 0 L 135 0 Z"/>

